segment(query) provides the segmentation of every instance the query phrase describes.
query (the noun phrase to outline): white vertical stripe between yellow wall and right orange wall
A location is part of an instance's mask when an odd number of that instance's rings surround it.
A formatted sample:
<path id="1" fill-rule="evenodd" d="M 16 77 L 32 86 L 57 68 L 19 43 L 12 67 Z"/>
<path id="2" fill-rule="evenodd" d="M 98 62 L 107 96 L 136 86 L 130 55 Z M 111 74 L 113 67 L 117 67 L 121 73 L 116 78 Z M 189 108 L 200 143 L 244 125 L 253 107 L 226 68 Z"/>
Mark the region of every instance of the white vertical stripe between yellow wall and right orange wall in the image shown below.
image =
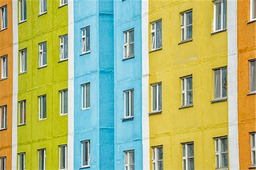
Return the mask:
<path id="1" fill-rule="evenodd" d="M 230 169 L 240 169 L 237 107 L 237 1 L 227 1 L 228 12 L 228 108 Z"/>

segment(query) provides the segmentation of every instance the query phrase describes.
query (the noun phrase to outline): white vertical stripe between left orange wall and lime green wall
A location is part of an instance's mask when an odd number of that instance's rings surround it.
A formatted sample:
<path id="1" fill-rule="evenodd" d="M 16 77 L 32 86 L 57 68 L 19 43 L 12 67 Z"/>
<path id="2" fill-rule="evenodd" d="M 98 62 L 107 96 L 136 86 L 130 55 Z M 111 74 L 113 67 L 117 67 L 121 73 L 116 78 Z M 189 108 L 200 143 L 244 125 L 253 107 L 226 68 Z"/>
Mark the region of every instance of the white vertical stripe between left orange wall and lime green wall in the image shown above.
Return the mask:
<path id="1" fill-rule="evenodd" d="M 18 106 L 18 1 L 13 0 L 13 122 L 11 169 L 17 169 L 17 106 Z"/>

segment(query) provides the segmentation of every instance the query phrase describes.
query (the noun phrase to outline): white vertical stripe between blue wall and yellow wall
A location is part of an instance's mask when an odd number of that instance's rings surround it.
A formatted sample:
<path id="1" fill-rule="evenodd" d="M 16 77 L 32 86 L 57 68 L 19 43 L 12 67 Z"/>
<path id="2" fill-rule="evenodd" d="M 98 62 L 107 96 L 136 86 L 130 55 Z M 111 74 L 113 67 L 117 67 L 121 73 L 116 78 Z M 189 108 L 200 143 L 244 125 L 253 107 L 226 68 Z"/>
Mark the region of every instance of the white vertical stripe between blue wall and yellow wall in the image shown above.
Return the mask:
<path id="1" fill-rule="evenodd" d="M 143 169 L 150 169 L 148 124 L 148 0 L 141 1 L 142 27 L 142 152 Z"/>

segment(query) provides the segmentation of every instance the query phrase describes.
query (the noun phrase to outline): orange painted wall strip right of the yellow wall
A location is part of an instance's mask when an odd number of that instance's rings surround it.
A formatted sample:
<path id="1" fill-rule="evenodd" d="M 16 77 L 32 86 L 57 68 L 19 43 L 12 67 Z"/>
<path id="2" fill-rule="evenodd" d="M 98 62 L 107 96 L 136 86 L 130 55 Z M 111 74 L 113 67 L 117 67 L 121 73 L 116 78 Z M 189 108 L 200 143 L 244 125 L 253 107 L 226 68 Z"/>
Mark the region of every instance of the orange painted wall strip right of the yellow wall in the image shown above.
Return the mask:
<path id="1" fill-rule="evenodd" d="M 256 94 L 249 93 L 249 61 L 256 58 L 256 22 L 250 20 L 250 1 L 237 2 L 238 136 L 240 169 L 251 167 L 250 132 L 256 131 Z"/>

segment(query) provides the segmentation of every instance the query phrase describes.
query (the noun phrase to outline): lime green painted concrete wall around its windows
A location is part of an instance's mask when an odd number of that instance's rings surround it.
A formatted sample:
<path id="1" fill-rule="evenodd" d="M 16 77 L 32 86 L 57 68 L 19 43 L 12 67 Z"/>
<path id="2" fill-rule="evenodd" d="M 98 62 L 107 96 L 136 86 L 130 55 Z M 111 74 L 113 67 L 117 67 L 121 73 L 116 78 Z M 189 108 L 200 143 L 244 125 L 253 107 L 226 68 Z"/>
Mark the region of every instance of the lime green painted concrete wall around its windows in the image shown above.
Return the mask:
<path id="1" fill-rule="evenodd" d="M 18 153 L 26 152 L 26 169 L 38 168 L 41 148 L 46 148 L 46 169 L 58 169 L 59 145 L 67 144 L 68 115 L 60 116 L 59 90 L 68 88 L 68 61 L 58 61 L 59 36 L 68 33 L 68 6 L 59 6 L 47 1 L 47 13 L 39 16 L 39 1 L 27 1 L 27 21 L 18 25 L 19 50 L 27 48 L 27 72 L 18 76 L 18 101 L 27 104 L 26 125 L 18 126 Z M 39 69 L 38 44 L 44 41 L 47 67 Z M 38 96 L 43 94 L 47 119 L 39 121 Z"/>

